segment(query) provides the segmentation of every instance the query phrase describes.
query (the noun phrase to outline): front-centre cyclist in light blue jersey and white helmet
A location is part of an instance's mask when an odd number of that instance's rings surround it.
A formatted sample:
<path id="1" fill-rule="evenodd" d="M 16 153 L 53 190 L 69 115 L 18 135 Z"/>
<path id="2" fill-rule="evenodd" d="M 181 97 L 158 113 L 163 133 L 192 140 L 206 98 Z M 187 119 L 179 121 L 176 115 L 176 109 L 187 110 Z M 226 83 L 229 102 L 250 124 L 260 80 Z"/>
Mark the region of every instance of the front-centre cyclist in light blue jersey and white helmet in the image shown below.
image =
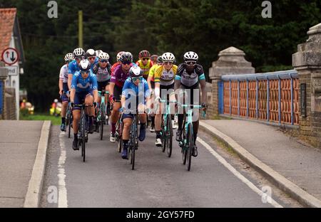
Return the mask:
<path id="1" fill-rule="evenodd" d="M 128 74 L 129 78 L 126 79 L 121 93 L 121 111 L 123 112 L 123 152 L 121 158 L 123 159 L 128 159 L 128 140 L 133 112 L 138 110 L 141 122 L 138 139 L 143 141 L 146 136 L 145 110 L 150 110 L 149 107 L 151 107 L 151 93 L 147 81 L 143 78 L 143 70 L 138 66 L 133 66 Z M 129 112 L 129 110 L 133 112 Z"/>

